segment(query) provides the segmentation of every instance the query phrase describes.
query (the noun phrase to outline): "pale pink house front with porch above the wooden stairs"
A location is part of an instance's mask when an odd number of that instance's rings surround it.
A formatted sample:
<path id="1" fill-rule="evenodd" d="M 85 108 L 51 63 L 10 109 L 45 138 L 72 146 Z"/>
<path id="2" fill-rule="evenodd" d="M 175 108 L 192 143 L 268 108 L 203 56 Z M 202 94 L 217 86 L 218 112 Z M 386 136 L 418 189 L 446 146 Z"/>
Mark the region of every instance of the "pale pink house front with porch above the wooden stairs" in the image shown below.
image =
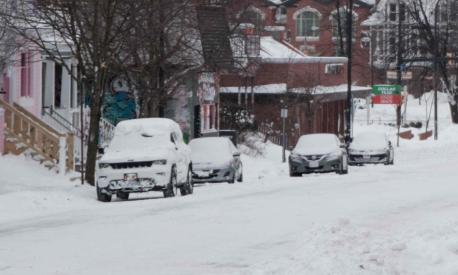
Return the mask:
<path id="1" fill-rule="evenodd" d="M 52 61 L 32 47 L 20 49 L 0 72 L 0 96 L 9 104 L 25 108 L 58 132 L 73 130 L 72 127 L 79 125 L 80 111 L 77 83 L 72 78 L 77 67 L 70 56 L 64 62 Z M 0 144 L 3 145 L 4 119 L 0 121 Z"/>

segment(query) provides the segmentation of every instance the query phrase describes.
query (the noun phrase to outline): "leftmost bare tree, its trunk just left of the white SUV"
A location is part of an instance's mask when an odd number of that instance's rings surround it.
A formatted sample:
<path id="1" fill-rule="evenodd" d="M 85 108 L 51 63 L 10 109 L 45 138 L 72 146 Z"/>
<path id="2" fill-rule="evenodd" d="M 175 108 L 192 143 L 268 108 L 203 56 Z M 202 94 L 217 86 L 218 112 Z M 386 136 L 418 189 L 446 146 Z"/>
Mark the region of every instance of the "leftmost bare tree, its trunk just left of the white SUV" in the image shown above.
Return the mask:
<path id="1" fill-rule="evenodd" d="M 86 88 L 91 116 L 85 179 L 95 183 L 99 121 L 104 91 L 113 68 L 118 68 L 122 34 L 129 31 L 130 1 L 122 0 L 5 0 L 3 18 L 16 36 L 61 64 Z M 14 6 L 14 12 L 8 7 Z M 69 56 L 78 62 L 77 74 L 66 64 Z M 83 102 L 81 102 L 83 104 Z"/>

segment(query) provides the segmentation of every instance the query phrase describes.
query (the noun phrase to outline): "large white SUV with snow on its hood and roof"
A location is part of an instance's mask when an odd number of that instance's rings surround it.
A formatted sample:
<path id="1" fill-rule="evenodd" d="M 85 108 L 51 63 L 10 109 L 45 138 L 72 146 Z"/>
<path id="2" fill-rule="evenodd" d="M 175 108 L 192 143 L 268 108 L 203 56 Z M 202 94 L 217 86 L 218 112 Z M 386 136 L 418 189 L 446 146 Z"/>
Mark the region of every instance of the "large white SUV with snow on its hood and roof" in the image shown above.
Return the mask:
<path id="1" fill-rule="evenodd" d="M 193 193 L 191 150 L 177 123 L 165 118 L 120 122 L 98 162 L 97 199 L 127 200 L 130 193 L 161 191 L 173 197 Z"/>

